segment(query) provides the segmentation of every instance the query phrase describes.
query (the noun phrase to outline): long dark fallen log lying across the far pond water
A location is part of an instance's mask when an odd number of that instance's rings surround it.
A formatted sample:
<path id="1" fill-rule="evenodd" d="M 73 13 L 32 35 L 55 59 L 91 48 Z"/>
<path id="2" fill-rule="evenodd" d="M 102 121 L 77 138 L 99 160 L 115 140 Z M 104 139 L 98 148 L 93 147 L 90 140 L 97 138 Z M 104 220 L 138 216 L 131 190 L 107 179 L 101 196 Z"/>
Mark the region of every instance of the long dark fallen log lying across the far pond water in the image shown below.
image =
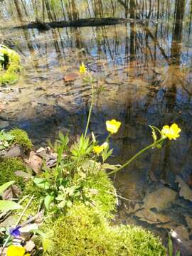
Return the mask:
<path id="1" fill-rule="evenodd" d="M 149 20 L 147 20 L 149 21 Z M 38 20 L 16 26 L 14 28 L 38 28 L 42 30 L 43 26 L 46 28 L 66 28 L 66 27 L 84 27 L 84 26 L 110 26 L 120 23 L 144 23 L 145 20 L 132 19 L 132 18 L 80 18 L 77 21 L 52 21 L 47 23 L 39 22 Z"/>

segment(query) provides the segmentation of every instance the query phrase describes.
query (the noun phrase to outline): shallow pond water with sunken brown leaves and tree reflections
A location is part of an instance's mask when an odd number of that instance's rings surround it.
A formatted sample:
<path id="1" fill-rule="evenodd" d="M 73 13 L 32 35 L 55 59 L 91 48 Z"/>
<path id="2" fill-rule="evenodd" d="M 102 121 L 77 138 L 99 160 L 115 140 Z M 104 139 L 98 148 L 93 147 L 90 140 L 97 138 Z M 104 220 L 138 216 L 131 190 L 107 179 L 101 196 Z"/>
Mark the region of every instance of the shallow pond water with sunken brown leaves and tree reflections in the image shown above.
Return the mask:
<path id="1" fill-rule="evenodd" d="M 150 144 L 149 125 L 161 128 L 176 122 L 182 129 L 177 141 L 148 151 L 115 177 L 119 195 L 128 199 L 119 201 L 116 223 L 142 225 L 163 239 L 166 230 L 173 229 L 181 239 L 175 240 L 176 246 L 183 255 L 191 255 L 191 1 L 140 0 L 135 6 L 131 0 L 128 9 L 121 3 L 1 1 L 1 40 L 14 41 L 23 72 L 16 85 L 0 88 L 0 127 L 25 129 L 36 146 L 54 139 L 58 130 L 80 134 L 91 100 L 90 86 L 78 76 L 82 62 L 97 90 L 90 130 L 102 142 L 107 136 L 105 121 L 122 122 L 111 140 L 110 161 L 123 164 Z M 90 16 L 149 21 L 45 33 L 13 28 L 36 16 L 45 21 Z"/>

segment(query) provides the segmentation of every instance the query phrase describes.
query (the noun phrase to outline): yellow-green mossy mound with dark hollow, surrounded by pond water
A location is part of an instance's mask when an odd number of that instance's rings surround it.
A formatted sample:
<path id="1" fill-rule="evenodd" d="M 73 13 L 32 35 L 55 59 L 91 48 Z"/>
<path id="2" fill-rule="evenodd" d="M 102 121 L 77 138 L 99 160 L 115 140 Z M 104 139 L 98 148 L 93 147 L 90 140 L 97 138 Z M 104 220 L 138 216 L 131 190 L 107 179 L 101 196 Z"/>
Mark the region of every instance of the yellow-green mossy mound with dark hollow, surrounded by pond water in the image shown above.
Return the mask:
<path id="1" fill-rule="evenodd" d="M 18 80 L 18 73 L 21 71 L 20 57 L 4 45 L 0 45 L 0 53 L 4 58 L 4 68 L 0 69 L 0 84 L 13 84 Z"/>

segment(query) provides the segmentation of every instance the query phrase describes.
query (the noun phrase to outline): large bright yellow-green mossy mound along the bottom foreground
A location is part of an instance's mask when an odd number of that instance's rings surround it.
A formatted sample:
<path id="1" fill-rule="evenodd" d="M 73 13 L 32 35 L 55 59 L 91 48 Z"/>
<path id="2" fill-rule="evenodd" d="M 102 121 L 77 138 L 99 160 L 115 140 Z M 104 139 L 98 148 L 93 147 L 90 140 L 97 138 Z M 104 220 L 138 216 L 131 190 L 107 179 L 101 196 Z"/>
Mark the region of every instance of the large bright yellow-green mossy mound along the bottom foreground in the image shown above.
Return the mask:
<path id="1" fill-rule="evenodd" d="M 166 251 L 159 238 L 142 228 L 110 227 L 97 207 L 78 203 L 67 215 L 51 220 L 54 246 L 49 254 L 68 256 L 163 256 Z"/>

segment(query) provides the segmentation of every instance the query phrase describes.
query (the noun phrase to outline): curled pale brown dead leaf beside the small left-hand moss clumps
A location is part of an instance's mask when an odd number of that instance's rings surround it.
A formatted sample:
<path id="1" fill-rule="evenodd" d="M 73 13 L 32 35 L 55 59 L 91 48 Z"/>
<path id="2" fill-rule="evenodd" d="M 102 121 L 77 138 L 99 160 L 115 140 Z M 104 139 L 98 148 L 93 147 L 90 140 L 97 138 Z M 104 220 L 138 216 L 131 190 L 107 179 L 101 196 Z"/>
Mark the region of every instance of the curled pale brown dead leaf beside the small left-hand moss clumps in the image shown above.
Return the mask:
<path id="1" fill-rule="evenodd" d="M 36 173 L 41 174 L 41 169 L 43 166 L 43 159 L 36 154 L 36 152 L 31 151 L 29 158 L 25 159 L 26 164 Z"/>

